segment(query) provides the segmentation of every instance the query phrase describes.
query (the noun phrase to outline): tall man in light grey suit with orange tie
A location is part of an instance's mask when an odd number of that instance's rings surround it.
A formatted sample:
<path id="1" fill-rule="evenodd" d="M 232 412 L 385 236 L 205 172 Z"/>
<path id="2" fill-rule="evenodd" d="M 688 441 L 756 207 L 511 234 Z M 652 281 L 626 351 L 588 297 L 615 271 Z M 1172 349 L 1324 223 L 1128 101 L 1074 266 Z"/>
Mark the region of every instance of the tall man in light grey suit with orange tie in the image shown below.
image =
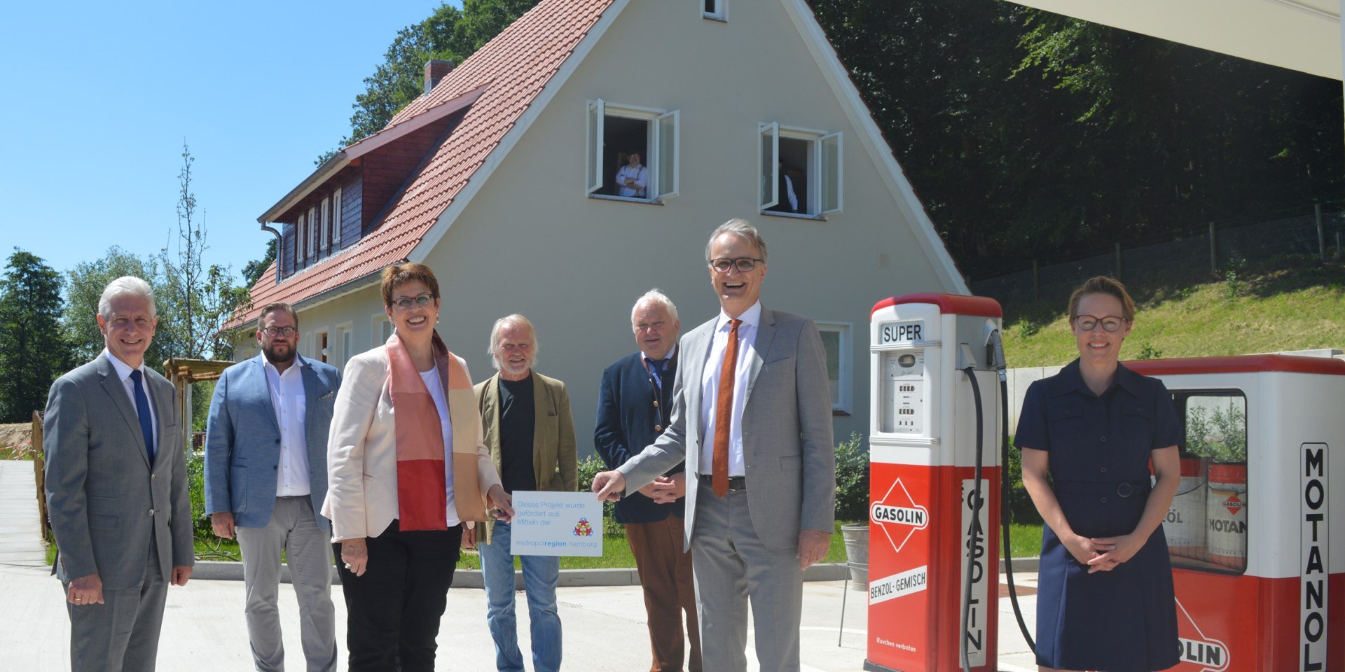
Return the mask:
<path id="1" fill-rule="evenodd" d="M 686 460 L 705 671 L 746 669 L 749 603 L 761 669 L 796 671 L 803 570 L 826 555 L 835 517 L 826 355 L 812 320 L 761 306 L 756 227 L 724 223 L 705 259 L 721 310 L 678 345 L 672 421 L 593 491 L 617 499 Z"/>

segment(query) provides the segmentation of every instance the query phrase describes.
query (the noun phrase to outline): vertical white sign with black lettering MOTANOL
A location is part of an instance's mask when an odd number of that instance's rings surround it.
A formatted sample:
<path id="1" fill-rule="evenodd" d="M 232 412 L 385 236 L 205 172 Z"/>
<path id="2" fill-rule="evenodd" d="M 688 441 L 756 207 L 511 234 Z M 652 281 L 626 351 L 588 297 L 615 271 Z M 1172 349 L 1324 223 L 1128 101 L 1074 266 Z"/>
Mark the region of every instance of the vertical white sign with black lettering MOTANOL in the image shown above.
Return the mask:
<path id="1" fill-rule="evenodd" d="M 1330 558 L 1326 551 L 1330 548 L 1326 531 L 1330 521 L 1326 519 L 1326 474 L 1328 469 L 1326 444 L 1302 445 L 1302 469 L 1299 469 L 1299 487 L 1303 492 L 1301 503 L 1303 523 L 1299 543 L 1299 571 L 1301 595 L 1299 603 L 1299 644 L 1302 656 L 1298 659 L 1298 669 L 1302 672 L 1317 672 L 1326 665 L 1326 579 L 1330 570 Z M 1340 642 L 1337 642 L 1340 644 Z"/>

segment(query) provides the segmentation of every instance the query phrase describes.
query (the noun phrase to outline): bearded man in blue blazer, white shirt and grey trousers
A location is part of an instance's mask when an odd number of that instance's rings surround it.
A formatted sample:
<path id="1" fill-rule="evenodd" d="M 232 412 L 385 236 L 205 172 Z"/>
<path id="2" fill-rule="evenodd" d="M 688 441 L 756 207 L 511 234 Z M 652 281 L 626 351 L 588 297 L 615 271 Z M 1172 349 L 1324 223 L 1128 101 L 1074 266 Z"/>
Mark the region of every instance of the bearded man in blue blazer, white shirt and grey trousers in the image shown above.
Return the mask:
<path id="1" fill-rule="evenodd" d="M 285 669 L 280 554 L 285 551 L 309 672 L 336 669 L 331 598 L 327 431 L 336 367 L 299 356 L 299 316 L 270 304 L 257 317 L 261 353 L 225 370 L 206 427 L 206 511 L 243 554 L 247 638 L 260 672 Z"/>

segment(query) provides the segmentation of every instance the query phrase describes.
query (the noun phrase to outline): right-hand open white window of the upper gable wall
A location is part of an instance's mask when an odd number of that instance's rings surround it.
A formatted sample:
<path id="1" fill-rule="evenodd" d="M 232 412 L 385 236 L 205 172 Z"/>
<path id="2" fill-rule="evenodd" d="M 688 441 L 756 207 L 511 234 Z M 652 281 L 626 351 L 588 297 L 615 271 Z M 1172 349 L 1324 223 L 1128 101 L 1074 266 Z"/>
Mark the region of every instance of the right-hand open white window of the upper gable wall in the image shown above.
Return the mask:
<path id="1" fill-rule="evenodd" d="M 759 146 L 763 212 L 820 216 L 841 211 L 841 133 L 761 124 Z"/>

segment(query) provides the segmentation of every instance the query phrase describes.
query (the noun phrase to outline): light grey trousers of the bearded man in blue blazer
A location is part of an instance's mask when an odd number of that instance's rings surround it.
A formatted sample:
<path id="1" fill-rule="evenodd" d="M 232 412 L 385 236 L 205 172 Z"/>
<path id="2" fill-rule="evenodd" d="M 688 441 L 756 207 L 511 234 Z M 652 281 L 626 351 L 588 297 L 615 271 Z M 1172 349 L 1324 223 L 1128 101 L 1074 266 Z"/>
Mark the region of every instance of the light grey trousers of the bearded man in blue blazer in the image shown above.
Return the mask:
<path id="1" fill-rule="evenodd" d="M 331 597 L 331 532 L 317 527 L 307 495 L 277 497 L 270 523 L 234 528 L 243 552 L 243 614 L 260 672 L 285 669 L 280 636 L 280 552 L 299 598 L 300 636 L 308 672 L 336 669 L 336 610 Z"/>

